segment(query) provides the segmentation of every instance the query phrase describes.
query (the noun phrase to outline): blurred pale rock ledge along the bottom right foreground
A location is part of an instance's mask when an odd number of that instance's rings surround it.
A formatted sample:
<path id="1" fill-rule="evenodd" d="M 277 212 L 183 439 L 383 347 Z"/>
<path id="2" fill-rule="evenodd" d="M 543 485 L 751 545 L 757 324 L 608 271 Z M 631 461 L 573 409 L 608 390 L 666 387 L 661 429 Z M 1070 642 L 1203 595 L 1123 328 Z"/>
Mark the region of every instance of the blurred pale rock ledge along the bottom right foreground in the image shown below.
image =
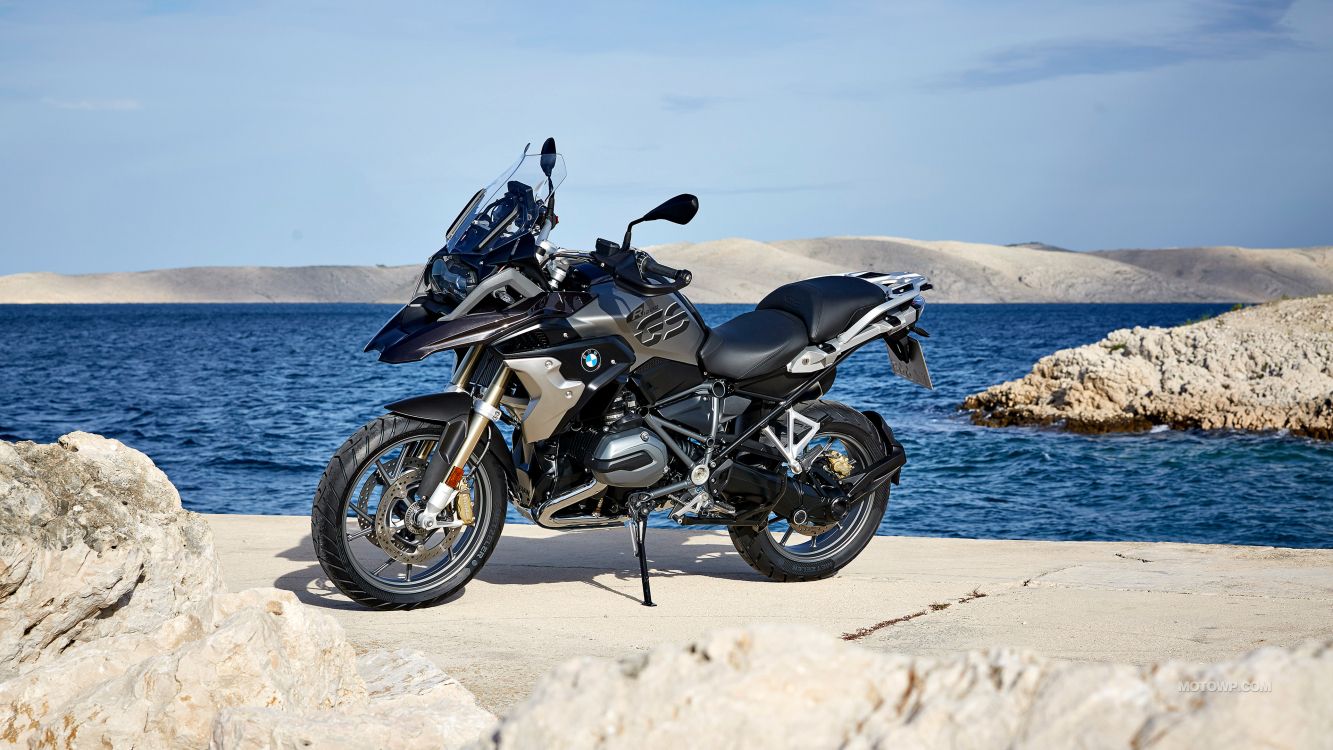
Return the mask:
<path id="1" fill-rule="evenodd" d="M 1333 641 L 1210 665 L 952 658 L 766 626 L 559 667 L 484 747 L 1316 747 Z"/>

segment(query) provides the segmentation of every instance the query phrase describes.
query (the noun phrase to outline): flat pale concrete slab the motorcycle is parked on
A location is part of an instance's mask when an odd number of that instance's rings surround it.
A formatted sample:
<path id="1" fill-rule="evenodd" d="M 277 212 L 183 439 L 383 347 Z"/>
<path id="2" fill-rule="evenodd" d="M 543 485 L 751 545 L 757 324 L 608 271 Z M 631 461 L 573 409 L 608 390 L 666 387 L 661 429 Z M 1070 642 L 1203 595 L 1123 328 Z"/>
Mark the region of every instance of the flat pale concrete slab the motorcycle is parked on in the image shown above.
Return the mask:
<path id="1" fill-rule="evenodd" d="M 456 599 L 371 611 L 329 590 L 304 517 L 204 518 L 231 590 L 289 590 L 332 614 L 359 651 L 420 649 L 497 713 L 569 658 L 753 623 L 806 625 L 908 654 L 1012 646 L 1124 663 L 1217 661 L 1333 635 L 1328 549 L 874 537 L 834 578 L 773 583 L 725 533 L 655 529 L 659 606 L 648 609 L 623 529 L 509 525 Z"/>

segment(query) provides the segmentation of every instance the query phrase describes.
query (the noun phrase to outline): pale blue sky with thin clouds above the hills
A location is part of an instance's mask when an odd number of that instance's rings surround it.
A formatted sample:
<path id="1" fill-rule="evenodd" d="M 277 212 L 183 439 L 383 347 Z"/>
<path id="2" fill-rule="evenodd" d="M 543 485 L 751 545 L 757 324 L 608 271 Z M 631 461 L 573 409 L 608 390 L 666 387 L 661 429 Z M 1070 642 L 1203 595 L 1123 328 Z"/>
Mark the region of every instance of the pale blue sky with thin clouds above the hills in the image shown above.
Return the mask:
<path id="1" fill-rule="evenodd" d="M 0 0 L 0 273 L 408 264 L 524 144 L 552 240 L 1333 244 L 1329 0 Z"/>

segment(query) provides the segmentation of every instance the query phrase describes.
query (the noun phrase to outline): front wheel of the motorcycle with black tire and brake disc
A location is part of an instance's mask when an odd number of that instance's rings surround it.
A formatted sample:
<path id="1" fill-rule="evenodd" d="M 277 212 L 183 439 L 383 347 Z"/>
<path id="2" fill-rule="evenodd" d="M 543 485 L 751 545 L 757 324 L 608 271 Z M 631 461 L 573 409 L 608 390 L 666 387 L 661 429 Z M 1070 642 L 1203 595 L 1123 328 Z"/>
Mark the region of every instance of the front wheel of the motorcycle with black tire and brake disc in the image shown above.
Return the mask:
<path id="1" fill-rule="evenodd" d="M 472 579 L 504 529 L 507 477 L 473 454 L 464 469 L 473 524 L 423 530 L 417 492 L 443 426 L 385 414 L 359 429 L 329 460 L 311 512 L 315 554 L 335 586 L 375 609 L 443 602 Z M 448 514 L 448 512 L 447 512 Z"/>

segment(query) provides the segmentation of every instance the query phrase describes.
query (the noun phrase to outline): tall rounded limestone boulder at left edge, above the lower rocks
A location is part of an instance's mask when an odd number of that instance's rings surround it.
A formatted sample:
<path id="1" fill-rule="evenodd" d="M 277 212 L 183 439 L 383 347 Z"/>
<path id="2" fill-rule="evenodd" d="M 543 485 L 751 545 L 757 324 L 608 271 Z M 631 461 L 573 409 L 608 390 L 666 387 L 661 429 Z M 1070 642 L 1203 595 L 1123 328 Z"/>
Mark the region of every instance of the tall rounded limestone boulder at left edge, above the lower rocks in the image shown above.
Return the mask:
<path id="1" fill-rule="evenodd" d="M 223 590 L 204 520 L 117 441 L 0 442 L 0 678 L 43 654 L 152 633 Z"/>

